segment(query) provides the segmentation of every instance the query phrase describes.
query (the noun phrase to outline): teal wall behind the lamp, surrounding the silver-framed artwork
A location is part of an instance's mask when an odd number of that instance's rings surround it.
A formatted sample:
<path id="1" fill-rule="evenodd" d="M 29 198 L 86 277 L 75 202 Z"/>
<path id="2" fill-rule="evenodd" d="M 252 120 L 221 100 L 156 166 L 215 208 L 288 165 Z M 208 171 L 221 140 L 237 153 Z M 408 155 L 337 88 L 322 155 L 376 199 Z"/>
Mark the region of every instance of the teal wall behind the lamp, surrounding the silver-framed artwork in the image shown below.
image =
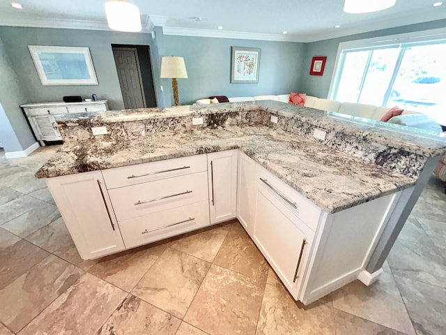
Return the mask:
<path id="1" fill-rule="evenodd" d="M 231 84 L 231 46 L 261 48 L 258 84 Z M 163 36 L 160 56 L 184 57 L 188 79 L 178 80 L 178 91 L 180 103 L 190 104 L 217 95 L 260 96 L 298 91 L 306 48 L 305 43 Z M 164 91 L 171 93 L 170 80 L 164 80 L 163 86 Z"/>

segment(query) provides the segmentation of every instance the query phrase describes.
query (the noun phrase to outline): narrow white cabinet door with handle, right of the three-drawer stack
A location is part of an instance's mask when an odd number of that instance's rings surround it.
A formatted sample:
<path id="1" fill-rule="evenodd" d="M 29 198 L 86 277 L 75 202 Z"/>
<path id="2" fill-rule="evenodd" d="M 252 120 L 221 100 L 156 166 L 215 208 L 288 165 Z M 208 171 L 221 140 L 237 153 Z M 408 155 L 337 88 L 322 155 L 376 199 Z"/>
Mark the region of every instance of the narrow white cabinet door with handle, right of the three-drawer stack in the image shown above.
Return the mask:
<path id="1" fill-rule="evenodd" d="M 210 223 L 236 217 L 238 150 L 208 154 Z"/>

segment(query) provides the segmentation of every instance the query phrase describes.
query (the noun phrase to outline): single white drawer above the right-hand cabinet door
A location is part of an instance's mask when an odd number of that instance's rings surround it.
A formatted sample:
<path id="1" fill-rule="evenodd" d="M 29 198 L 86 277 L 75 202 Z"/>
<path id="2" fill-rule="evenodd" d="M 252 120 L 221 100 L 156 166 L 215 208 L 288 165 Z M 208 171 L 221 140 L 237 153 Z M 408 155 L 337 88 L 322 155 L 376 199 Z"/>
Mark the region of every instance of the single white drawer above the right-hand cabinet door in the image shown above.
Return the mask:
<path id="1" fill-rule="evenodd" d="M 300 218 L 313 231 L 316 231 L 321 209 L 304 196 L 300 195 L 284 181 L 277 178 L 271 172 L 257 167 L 256 182 L 262 186 L 266 186 L 268 191 L 285 204 L 295 216 Z"/>

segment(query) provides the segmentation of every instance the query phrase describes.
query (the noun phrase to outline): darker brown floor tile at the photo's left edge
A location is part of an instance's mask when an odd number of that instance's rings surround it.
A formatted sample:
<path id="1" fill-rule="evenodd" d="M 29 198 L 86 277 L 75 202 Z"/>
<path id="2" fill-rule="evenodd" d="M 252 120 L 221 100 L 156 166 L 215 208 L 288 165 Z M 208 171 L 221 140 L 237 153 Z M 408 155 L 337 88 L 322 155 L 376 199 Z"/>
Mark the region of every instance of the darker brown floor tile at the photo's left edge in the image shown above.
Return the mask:
<path id="1" fill-rule="evenodd" d="M 0 250 L 0 290 L 48 255 L 45 250 L 24 240 Z"/>

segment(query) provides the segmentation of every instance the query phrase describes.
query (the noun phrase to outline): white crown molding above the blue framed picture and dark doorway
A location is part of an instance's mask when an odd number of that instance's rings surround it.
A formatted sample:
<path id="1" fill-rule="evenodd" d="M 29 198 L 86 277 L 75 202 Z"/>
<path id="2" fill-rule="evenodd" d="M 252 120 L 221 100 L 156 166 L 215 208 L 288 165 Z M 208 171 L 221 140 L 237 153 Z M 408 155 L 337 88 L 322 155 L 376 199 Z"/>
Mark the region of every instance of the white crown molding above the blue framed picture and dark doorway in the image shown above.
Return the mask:
<path id="1" fill-rule="evenodd" d="M 148 17 L 145 21 L 141 22 L 142 31 L 137 34 L 150 34 L 155 28 L 151 17 Z M 0 26 L 115 31 L 110 29 L 106 22 L 43 17 L 0 17 Z"/>

